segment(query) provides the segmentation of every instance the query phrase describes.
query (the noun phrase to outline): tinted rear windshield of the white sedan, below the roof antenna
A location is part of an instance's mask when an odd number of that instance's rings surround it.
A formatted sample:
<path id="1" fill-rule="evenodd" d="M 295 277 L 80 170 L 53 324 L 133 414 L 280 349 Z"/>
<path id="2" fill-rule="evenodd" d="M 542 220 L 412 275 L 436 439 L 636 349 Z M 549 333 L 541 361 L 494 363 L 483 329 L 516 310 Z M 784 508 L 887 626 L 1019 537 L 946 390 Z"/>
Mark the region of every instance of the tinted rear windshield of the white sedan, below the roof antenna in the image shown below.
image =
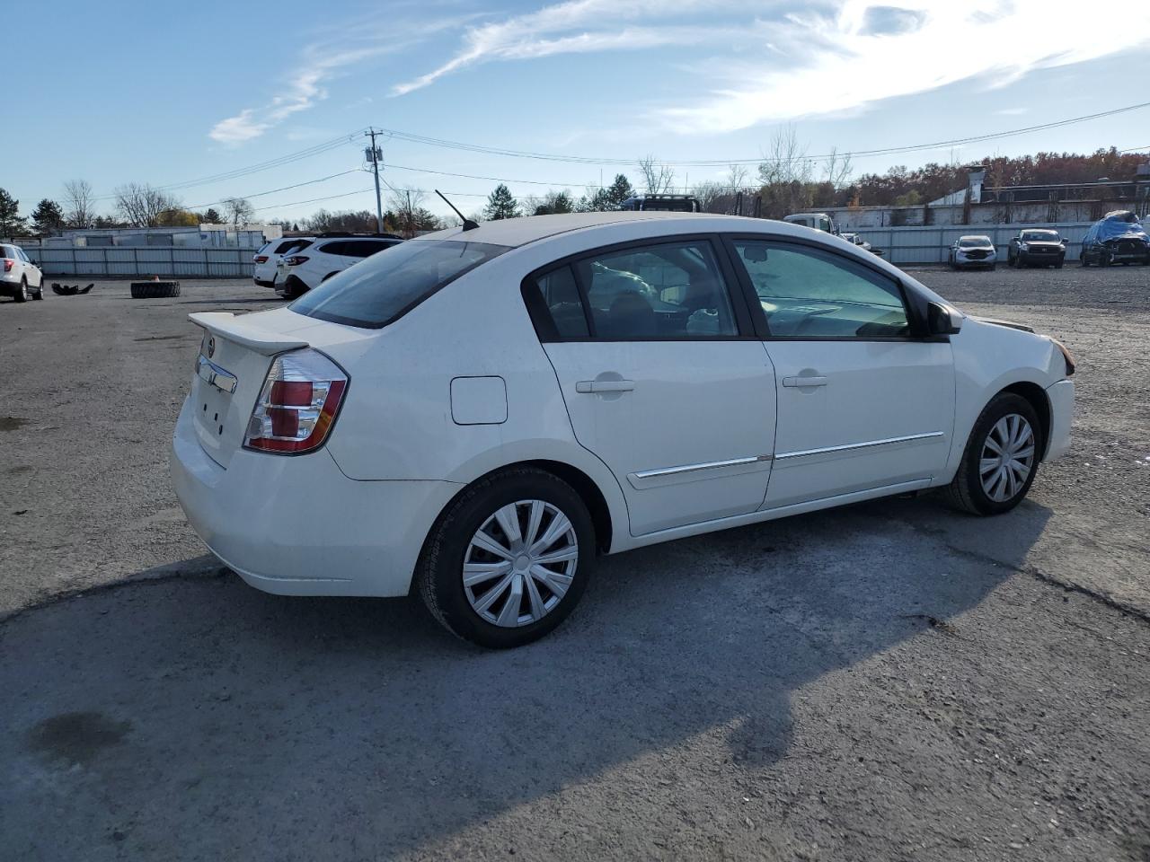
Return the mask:
<path id="1" fill-rule="evenodd" d="M 465 272 L 507 251 L 460 240 L 400 243 L 366 257 L 289 306 L 296 314 L 348 326 L 379 329 Z"/>

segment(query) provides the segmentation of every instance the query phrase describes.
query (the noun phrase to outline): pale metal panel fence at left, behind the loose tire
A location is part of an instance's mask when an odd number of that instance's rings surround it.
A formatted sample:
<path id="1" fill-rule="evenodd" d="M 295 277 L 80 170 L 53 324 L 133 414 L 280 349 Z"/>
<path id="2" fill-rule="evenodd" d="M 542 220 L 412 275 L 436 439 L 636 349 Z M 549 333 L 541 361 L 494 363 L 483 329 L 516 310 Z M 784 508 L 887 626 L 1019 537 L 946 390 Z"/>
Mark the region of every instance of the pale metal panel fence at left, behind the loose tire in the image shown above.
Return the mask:
<path id="1" fill-rule="evenodd" d="M 254 248 L 28 248 L 48 276 L 251 278 Z"/>

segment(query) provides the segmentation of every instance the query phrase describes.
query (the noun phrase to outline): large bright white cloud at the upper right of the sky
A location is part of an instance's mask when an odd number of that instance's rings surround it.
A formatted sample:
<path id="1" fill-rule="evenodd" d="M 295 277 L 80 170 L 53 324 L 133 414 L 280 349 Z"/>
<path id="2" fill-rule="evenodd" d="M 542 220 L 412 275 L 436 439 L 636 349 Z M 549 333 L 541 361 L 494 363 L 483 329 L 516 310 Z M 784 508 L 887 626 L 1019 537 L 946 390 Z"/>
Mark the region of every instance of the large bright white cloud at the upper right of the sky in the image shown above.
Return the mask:
<path id="1" fill-rule="evenodd" d="M 1105 31 L 1071 25 L 1050 0 L 910 0 L 899 3 L 907 13 L 897 16 L 900 26 L 876 30 L 877 6 L 846 0 L 834 15 L 792 16 L 772 37 L 783 62 L 744 63 L 738 78 L 654 115 L 680 131 L 726 132 L 854 110 L 961 80 L 1005 85 L 1035 69 L 1150 43 L 1145 5 L 1124 7 L 1122 26 Z"/>

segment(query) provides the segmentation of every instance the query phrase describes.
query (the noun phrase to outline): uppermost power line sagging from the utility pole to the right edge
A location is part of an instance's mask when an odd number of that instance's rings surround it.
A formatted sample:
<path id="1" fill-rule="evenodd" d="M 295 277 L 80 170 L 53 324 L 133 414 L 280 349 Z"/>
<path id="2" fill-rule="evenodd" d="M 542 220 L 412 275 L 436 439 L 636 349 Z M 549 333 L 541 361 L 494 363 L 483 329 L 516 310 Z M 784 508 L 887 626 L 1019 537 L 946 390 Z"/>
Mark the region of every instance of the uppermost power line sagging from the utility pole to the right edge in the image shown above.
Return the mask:
<path id="1" fill-rule="evenodd" d="M 1048 129 L 1058 129 L 1065 125 L 1072 125 L 1075 123 L 1086 123 L 1091 120 L 1101 120 L 1103 117 L 1114 116 L 1117 114 L 1125 114 L 1132 110 L 1141 110 L 1142 108 L 1150 107 L 1150 102 L 1141 102 L 1138 105 L 1128 105 L 1122 108 L 1113 108 L 1111 110 L 1103 110 L 1096 114 L 1084 114 L 1079 117 L 1070 117 L 1067 120 L 1058 120 L 1050 123 L 1040 123 L 1037 125 L 1028 125 L 1021 129 L 1011 129 L 1003 132 L 989 132 L 987 134 L 974 134 L 966 138 L 954 138 L 952 140 L 933 141 L 929 144 L 912 144 L 907 146 L 899 147 L 881 147 L 877 149 L 859 149 L 851 151 L 849 153 L 837 153 L 837 155 L 850 155 L 852 159 L 879 156 L 879 155 L 897 155 L 899 153 L 913 153 L 922 149 L 941 149 L 943 147 L 957 146 L 963 144 L 977 144 L 987 140 L 997 140 L 999 138 L 1009 138 L 1018 134 L 1028 134 L 1030 132 L 1044 131 Z M 535 159 L 540 161 L 552 161 L 552 162 L 570 162 L 581 164 L 635 164 L 638 159 L 618 159 L 618 157 L 596 157 L 596 156 L 581 156 L 581 155 L 558 155 L 554 153 L 535 153 L 530 151 L 522 149 L 508 149 L 505 147 L 490 147 L 481 144 L 466 144 L 462 141 L 446 140 L 443 138 L 431 138 L 423 134 L 414 134 L 412 132 L 400 131 L 398 129 L 383 129 L 383 132 L 397 140 L 406 140 L 412 144 L 425 144 L 428 146 L 446 147 L 448 149 L 461 149 L 471 153 L 483 153 L 486 155 L 500 155 L 508 156 L 513 159 Z M 819 155 L 804 155 L 803 160 L 811 161 L 815 159 L 828 159 L 833 153 L 822 153 Z M 770 159 L 758 156 L 754 159 L 684 159 L 684 160 L 659 160 L 658 164 L 667 166 L 683 166 L 683 167 L 714 167 L 724 164 L 758 164 L 761 162 L 782 161 L 779 159 Z"/>

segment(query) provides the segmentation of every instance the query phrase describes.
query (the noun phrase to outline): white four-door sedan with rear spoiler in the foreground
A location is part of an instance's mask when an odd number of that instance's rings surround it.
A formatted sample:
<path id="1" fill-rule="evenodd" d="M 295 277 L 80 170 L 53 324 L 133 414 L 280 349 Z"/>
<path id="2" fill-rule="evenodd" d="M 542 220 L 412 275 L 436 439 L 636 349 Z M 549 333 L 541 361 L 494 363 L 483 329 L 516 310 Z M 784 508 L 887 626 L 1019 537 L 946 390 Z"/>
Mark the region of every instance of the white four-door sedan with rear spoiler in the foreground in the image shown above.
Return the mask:
<path id="1" fill-rule="evenodd" d="M 927 488 L 996 515 L 1070 445 L 1059 343 L 773 221 L 490 222 L 191 320 L 171 471 L 208 547 L 273 593 L 414 588 L 494 647 L 598 554 Z"/>

